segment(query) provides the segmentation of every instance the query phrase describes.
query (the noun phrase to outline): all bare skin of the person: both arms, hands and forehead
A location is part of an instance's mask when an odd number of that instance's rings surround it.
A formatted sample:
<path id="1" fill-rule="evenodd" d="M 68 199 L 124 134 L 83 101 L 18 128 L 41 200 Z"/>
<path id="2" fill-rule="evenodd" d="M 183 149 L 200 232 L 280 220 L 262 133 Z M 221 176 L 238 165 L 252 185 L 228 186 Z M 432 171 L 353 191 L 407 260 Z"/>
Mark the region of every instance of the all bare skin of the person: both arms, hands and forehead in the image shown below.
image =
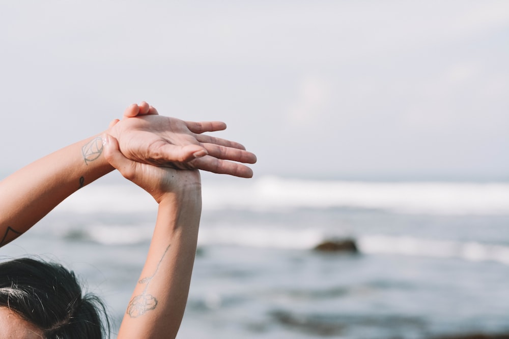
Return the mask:
<path id="1" fill-rule="evenodd" d="M 0 181 L 0 246 L 23 234 L 72 193 L 118 169 L 159 205 L 147 260 L 118 337 L 175 337 L 187 302 L 200 223 L 197 169 L 251 177 L 251 169 L 242 163 L 256 162 L 241 144 L 202 134 L 225 128 L 218 121 L 160 116 L 145 102 L 129 106 L 124 118 L 112 121 L 105 132 L 55 151 Z M 16 314 L 5 308 L 0 311 L 0 335 L 4 335 L 0 339 L 41 337 L 37 328 Z"/>

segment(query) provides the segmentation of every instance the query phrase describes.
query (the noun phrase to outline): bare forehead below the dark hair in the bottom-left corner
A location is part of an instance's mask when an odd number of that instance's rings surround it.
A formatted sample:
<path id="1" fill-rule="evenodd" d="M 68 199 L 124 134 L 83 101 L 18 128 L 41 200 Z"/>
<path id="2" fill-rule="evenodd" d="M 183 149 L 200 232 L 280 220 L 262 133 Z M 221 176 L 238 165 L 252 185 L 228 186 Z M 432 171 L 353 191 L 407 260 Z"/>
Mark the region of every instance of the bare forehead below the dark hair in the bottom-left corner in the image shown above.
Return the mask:
<path id="1" fill-rule="evenodd" d="M 0 339 L 41 339 L 42 331 L 7 307 L 0 307 Z"/>

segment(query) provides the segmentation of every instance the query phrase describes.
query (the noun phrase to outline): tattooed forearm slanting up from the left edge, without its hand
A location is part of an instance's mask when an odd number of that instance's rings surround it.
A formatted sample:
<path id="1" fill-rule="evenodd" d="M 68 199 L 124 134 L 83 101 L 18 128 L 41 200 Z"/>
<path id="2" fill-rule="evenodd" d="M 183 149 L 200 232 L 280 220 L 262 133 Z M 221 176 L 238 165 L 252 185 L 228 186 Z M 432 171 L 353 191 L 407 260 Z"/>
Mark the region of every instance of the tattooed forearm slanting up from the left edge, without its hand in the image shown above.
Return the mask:
<path id="1" fill-rule="evenodd" d="M 79 141 L 0 181 L 0 246 L 10 242 L 65 198 L 114 168 L 100 135 Z"/>

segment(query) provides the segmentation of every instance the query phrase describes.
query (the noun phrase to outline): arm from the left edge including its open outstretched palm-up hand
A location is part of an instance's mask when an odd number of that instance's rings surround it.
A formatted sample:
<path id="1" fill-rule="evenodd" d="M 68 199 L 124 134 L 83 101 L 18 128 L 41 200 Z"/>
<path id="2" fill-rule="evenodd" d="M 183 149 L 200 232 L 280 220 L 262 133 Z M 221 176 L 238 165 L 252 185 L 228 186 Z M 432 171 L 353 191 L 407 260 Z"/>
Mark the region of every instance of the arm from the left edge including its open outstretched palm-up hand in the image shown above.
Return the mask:
<path id="1" fill-rule="evenodd" d="M 103 156 L 102 134 L 118 140 L 125 157 L 137 163 L 252 176 L 242 163 L 256 162 L 256 156 L 237 142 L 202 135 L 224 128 L 223 122 L 160 116 L 145 102 L 129 106 L 124 118 L 112 121 L 105 132 L 53 152 L 0 181 L 0 246 L 35 225 L 69 195 L 114 170 Z"/>

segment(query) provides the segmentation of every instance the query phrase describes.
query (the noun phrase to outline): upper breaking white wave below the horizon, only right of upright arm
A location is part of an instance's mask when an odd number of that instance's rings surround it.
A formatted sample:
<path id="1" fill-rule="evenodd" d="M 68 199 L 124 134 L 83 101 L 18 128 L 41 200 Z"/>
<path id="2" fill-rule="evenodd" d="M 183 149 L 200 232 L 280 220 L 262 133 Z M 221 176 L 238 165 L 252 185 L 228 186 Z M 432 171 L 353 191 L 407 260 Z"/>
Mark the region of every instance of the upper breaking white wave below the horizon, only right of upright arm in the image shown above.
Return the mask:
<path id="1" fill-rule="evenodd" d="M 509 183 L 308 181 L 264 177 L 230 199 L 223 191 L 213 204 L 275 208 L 353 207 L 406 213 L 509 213 Z M 233 192 L 232 192 L 233 193 Z M 208 194 L 208 192 L 207 192 Z M 212 200 L 212 199 L 211 199 Z"/>

